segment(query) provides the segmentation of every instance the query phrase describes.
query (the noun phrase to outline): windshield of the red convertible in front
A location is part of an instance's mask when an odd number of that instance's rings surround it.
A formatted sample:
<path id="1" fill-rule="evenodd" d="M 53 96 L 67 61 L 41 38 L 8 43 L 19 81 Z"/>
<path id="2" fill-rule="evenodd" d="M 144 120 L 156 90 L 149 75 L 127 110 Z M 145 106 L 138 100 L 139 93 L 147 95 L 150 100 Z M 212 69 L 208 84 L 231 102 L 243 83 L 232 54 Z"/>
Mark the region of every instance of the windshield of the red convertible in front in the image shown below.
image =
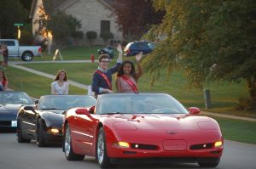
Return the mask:
<path id="1" fill-rule="evenodd" d="M 162 93 L 116 93 L 101 96 L 96 114 L 188 114 L 182 104 Z"/>

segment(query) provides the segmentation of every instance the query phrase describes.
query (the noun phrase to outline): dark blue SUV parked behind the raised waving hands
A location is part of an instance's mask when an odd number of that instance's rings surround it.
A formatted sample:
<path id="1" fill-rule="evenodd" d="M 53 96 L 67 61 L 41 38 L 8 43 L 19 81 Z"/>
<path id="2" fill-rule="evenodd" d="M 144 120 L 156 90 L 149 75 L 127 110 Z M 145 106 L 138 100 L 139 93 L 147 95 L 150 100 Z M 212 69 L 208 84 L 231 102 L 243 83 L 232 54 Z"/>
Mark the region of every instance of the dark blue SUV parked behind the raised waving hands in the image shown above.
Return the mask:
<path id="1" fill-rule="evenodd" d="M 135 41 L 129 42 L 124 49 L 125 56 L 135 56 L 140 52 L 143 54 L 149 54 L 154 50 L 155 44 L 154 42 L 146 42 L 146 41 Z"/>

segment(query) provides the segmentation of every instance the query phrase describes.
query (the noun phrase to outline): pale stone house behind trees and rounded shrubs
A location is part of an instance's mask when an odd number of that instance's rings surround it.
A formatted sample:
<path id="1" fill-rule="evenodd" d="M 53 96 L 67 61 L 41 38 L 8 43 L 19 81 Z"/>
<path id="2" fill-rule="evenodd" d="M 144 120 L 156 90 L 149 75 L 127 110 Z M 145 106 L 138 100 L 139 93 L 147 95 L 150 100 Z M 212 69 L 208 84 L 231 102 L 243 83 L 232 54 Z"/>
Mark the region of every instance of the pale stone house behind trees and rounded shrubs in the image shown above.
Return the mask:
<path id="1" fill-rule="evenodd" d="M 97 37 L 94 44 L 104 44 L 105 42 L 100 37 L 102 32 L 113 33 L 113 41 L 123 41 L 123 32 L 119 30 L 119 25 L 115 22 L 113 14 L 112 0 L 55 0 L 57 5 L 55 10 L 71 14 L 74 18 L 81 21 L 79 31 L 84 32 L 84 39 L 79 41 L 81 44 L 86 44 L 89 40 L 86 37 L 87 31 L 96 31 Z M 38 15 L 40 7 L 43 6 L 42 0 L 33 0 L 30 12 L 32 19 L 32 32 L 38 30 Z M 45 36 L 45 35 L 44 35 Z M 54 35 L 53 35 L 54 36 Z M 48 36 L 50 38 L 50 36 Z"/>

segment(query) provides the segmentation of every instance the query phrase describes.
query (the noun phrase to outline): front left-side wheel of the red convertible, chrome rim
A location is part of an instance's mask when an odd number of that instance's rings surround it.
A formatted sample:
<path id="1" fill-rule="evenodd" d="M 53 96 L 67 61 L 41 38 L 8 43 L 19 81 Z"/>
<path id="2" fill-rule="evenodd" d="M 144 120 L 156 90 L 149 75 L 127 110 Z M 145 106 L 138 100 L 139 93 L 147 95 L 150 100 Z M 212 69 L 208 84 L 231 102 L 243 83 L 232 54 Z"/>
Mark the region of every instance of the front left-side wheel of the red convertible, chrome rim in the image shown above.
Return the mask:
<path id="1" fill-rule="evenodd" d="M 96 161 L 102 168 L 111 166 L 103 127 L 100 128 L 96 141 Z"/>

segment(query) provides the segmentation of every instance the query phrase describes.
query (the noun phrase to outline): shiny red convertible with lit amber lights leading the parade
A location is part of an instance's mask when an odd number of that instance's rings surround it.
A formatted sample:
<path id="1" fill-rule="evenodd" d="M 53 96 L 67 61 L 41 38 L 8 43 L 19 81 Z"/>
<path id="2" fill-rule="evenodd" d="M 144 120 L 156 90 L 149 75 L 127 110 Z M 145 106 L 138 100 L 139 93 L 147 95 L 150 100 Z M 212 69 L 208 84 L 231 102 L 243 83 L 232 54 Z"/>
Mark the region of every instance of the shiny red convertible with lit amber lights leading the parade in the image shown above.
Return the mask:
<path id="1" fill-rule="evenodd" d="M 218 166 L 224 138 L 218 122 L 165 93 L 109 93 L 96 106 L 68 110 L 67 160 L 95 156 L 101 167 L 125 162 L 197 162 Z"/>

